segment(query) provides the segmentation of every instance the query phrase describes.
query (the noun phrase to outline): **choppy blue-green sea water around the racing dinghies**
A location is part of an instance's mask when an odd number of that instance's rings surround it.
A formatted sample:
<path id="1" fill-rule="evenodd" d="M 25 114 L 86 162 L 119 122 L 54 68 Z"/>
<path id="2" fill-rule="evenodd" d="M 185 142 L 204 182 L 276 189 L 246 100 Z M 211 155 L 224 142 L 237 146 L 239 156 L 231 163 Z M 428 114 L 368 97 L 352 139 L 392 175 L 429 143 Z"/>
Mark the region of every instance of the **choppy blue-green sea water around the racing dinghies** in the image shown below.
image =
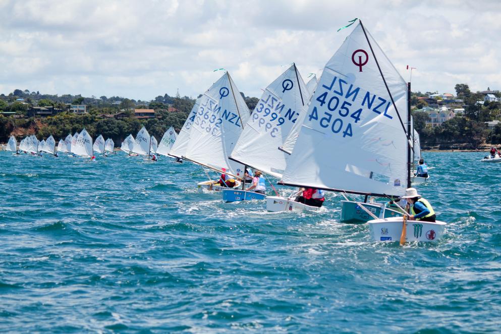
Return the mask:
<path id="1" fill-rule="evenodd" d="M 438 243 L 198 194 L 199 166 L 0 151 L 0 330 L 495 332 L 501 164 L 425 152 Z M 280 191 L 287 188 L 279 187 Z"/>

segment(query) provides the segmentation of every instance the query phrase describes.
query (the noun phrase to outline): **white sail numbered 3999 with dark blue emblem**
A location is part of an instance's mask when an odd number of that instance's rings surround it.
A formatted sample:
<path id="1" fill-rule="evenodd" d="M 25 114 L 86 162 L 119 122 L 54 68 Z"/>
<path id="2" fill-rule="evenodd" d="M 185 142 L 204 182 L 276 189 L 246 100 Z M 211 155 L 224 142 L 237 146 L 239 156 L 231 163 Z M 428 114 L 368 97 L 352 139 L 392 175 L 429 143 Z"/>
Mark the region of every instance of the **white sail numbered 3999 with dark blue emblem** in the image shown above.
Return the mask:
<path id="1" fill-rule="evenodd" d="M 289 154 L 279 150 L 309 93 L 296 65 L 264 90 L 233 149 L 231 159 L 281 178 Z M 303 111 L 304 112 L 304 111 Z"/>

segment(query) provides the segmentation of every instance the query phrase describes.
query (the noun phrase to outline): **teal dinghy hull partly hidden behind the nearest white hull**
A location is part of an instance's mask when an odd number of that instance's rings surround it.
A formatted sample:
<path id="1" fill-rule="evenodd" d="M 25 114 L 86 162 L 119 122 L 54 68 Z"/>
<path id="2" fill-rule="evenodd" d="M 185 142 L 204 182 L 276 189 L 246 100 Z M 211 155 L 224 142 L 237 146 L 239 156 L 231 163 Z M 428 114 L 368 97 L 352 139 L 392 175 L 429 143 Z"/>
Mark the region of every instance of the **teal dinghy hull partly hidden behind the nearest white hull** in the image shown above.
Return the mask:
<path id="1" fill-rule="evenodd" d="M 364 207 L 375 216 L 381 217 L 384 204 L 364 203 Z M 401 216 L 402 214 L 392 209 L 384 209 L 383 218 Z M 372 216 L 360 207 L 357 202 L 341 201 L 341 222 L 348 224 L 363 224 L 372 219 Z"/>

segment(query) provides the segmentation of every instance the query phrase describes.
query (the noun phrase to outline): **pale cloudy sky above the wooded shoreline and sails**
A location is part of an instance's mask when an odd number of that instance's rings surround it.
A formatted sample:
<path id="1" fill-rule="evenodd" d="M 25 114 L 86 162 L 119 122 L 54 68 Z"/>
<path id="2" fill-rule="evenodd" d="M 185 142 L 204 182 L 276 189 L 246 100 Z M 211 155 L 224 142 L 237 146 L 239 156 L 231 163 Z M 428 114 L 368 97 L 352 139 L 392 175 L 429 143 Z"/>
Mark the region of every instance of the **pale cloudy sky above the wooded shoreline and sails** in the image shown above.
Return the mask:
<path id="1" fill-rule="evenodd" d="M 259 97 L 320 73 L 354 18 L 413 91 L 501 90 L 499 1 L 0 0 L 0 93 L 196 97 L 224 68 Z"/>

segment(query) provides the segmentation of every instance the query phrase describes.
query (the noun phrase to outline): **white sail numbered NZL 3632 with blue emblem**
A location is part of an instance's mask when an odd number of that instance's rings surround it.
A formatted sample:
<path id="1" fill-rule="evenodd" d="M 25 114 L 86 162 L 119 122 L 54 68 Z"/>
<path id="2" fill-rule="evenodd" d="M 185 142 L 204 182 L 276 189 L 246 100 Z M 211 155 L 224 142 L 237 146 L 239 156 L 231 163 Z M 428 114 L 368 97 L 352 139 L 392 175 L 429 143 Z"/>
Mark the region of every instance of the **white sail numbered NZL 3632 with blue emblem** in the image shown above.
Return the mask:
<path id="1" fill-rule="evenodd" d="M 250 116 L 249 108 L 229 73 L 201 97 L 193 122 L 186 158 L 216 171 L 242 177 L 244 166 L 230 161 L 238 137 Z"/>

